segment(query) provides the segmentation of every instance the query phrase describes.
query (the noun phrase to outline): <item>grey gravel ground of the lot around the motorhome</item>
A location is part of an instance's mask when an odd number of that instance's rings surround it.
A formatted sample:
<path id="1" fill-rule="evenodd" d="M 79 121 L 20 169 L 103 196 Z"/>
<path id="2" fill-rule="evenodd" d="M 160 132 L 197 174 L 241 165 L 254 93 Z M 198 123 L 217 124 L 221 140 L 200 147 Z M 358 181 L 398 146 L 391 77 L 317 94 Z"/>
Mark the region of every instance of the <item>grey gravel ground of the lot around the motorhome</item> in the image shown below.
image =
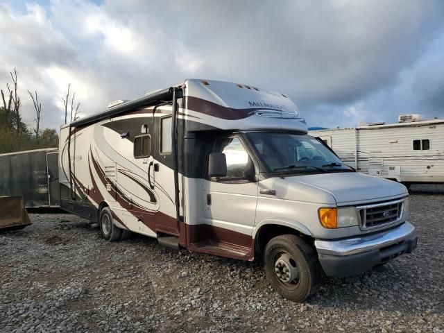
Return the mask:
<path id="1" fill-rule="evenodd" d="M 444 187 L 414 186 L 413 255 L 323 278 L 305 304 L 268 286 L 260 262 L 107 242 L 69 214 L 31 214 L 0 234 L 0 332 L 444 332 Z"/>

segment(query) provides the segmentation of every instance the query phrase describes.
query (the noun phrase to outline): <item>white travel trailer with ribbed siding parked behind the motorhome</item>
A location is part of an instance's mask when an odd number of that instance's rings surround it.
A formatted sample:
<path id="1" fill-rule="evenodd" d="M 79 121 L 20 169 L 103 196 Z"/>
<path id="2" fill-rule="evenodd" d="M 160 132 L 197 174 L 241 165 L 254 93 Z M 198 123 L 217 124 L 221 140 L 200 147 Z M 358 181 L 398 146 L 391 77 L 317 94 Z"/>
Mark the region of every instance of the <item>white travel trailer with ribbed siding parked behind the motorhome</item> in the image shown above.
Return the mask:
<path id="1" fill-rule="evenodd" d="M 357 171 L 402 182 L 444 183 L 444 119 L 400 115 L 398 123 L 311 130 Z"/>

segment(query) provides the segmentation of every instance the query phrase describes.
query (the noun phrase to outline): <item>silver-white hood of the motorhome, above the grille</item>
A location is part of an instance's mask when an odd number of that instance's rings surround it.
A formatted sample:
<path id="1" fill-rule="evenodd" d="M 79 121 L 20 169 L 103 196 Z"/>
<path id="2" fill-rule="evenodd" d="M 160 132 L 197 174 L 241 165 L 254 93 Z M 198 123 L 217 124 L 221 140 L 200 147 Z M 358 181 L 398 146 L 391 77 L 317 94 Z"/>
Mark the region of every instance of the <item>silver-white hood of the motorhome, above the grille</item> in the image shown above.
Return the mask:
<path id="1" fill-rule="evenodd" d="M 409 192 L 404 185 L 393 180 L 364 175 L 359 172 L 319 173 L 305 176 L 285 177 L 290 182 L 287 194 L 291 196 L 291 187 L 295 194 L 300 187 L 312 187 L 331 194 L 337 205 L 368 203 L 400 196 Z M 326 193 L 325 193 L 326 192 Z M 288 198 L 298 200 L 298 198 Z"/>

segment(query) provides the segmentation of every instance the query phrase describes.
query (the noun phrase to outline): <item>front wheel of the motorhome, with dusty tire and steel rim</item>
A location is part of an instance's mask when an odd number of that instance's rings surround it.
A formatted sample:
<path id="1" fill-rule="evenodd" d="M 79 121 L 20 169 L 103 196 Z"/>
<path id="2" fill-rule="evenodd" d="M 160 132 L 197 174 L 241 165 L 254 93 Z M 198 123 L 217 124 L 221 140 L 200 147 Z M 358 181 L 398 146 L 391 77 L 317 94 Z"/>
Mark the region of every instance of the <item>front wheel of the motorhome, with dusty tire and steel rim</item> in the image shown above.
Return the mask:
<path id="1" fill-rule="evenodd" d="M 321 268 L 315 251 L 300 237 L 283 234 L 268 242 L 265 272 L 280 296 L 303 302 L 321 285 Z"/>

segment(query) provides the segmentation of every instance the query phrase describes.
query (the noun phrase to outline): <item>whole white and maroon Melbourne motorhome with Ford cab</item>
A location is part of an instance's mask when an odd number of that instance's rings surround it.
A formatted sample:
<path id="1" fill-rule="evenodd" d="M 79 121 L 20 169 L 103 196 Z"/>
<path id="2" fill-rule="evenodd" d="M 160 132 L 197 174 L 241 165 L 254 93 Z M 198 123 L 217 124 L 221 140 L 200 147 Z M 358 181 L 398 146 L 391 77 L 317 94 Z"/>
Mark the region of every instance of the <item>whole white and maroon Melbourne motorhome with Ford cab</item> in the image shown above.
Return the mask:
<path id="1" fill-rule="evenodd" d="M 62 126 L 61 206 L 130 232 L 235 259 L 264 257 L 302 301 L 416 248 L 407 189 L 342 164 L 284 94 L 186 80 Z"/>

